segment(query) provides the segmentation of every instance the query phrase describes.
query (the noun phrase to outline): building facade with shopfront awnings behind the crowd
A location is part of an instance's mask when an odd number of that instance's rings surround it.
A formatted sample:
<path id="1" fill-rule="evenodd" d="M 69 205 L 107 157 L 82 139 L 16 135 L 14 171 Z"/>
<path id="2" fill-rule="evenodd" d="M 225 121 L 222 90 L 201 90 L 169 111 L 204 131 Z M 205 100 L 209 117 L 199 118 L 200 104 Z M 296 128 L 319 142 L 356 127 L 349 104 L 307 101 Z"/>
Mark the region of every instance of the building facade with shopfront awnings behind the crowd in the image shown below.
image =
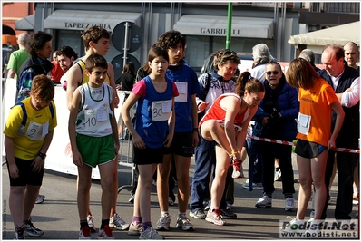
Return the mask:
<path id="1" fill-rule="evenodd" d="M 222 2 L 55 2 L 35 3 L 34 8 L 35 30 L 53 34 L 54 49 L 70 45 L 82 55 L 81 31 L 93 24 L 106 28 L 112 33 L 112 47 L 106 58 L 113 61 L 116 76 L 122 73 L 123 57 L 132 55 L 142 65 L 152 44 L 171 29 L 186 36 L 186 60 L 199 72 L 210 53 L 225 48 L 230 11 L 228 3 Z M 296 56 L 296 47 L 288 43 L 290 35 L 358 21 L 359 8 L 359 3 L 235 2 L 232 3 L 230 49 L 251 53 L 255 44 L 265 43 L 277 60 L 289 62 Z M 135 28 L 124 28 L 125 23 Z M 118 29 L 113 32 L 116 26 Z M 140 30 L 141 36 L 132 35 Z M 127 40 L 125 35 L 131 37 Z M 132 47 L 135 43 L 137 48 L 116 48 L 117 45 Z"/>

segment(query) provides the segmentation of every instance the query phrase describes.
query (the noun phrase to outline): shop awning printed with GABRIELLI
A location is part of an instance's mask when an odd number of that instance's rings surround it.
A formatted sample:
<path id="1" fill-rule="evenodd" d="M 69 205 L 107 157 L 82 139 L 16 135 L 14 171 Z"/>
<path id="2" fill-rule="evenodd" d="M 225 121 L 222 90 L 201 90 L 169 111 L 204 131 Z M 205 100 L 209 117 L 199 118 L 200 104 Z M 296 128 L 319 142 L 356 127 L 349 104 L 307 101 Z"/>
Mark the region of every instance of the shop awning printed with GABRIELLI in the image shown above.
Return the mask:
<path id="1" fill-rule="evenodd" d="M 185 35 L 225 36 L 227 16 L 182 15 L 174 29 Z M 232 17 L 231 36 L 243 38 L 273 38 L 273 20 L 257 17 Z"/>

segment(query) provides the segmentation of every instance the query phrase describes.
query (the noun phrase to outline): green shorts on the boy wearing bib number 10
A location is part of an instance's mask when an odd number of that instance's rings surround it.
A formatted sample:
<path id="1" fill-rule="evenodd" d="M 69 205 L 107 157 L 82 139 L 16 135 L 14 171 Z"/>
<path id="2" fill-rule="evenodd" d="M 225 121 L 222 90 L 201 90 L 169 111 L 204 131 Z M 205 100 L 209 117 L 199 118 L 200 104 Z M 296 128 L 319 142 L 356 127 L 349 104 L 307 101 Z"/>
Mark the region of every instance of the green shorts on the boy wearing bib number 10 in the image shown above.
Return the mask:
<path id="1" fill-rule="evenodd" d="M 115 158 L 113 135 L 91 137 L 77 133 L 77 147 L 82 155 L 84 164 L 95 168 L 111 162 Z"/>

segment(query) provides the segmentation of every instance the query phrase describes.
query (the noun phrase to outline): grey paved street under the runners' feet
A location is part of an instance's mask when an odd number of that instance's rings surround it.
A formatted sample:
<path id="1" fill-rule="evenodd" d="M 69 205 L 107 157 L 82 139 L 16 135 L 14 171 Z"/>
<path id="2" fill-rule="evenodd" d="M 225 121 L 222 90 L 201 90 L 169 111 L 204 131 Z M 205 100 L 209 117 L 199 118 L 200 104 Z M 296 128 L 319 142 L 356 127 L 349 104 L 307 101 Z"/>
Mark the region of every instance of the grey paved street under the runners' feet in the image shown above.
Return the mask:
<path id="1" fill-rule="evenodd" d="M 295 160 L 295 158 L 293 159 Z M 61 162 L 61 161 L 60 161 Z M 248 174 L 248 160 L 243 164 L 244 173 Z M 298 170 L 295 161 L 293 161 L 295 179 L 298 179 Z M 190 176 L 192 176 L 194 160 L 191 161 Z M 13 239 L 14 226 L 10 216 L 8 195 L 9 181 L 6 166 L 3 166 L 3 239 Z M 261 190 L 249 191 L 241 187 L 246 179 L 235 179 L 235 204 L 232 210 L 237 213 L 238 218 L 227 220 L 226 226 L 220 227 L 208 223 L 205 220 L 191 218 L 195 227 L 194 232 L 184 232 L 174 227 L 177 217 L 177 201 L 175 206 L 170 206 L 171 229 L 170 231 L 160 232 L 165 239 L 173 240 L 275 240 L 279 239 L 279 219 L 287 219 L 287 216 L 295 217 L 295 212 L 284 210 L 284 197 L 281 193 L 281 182 L 275 182 L 276 191 L 273 194 L 272 208 L 255 208 L 255 202 L 261 197 Z M 33 210 L 33 222 L 36 227 L 44 230 L 44 236 L 38 239 L 78 239 L 79 218 L 76 206 L 76 177 L 73 175 L 61 174 L 52 170 L 46 170 L 44 182 L 41 188 L 41 194 L 45 195 L 43 204 L 35 204 Z M 335 179 L 332 188 L 332 201 L 335 201 L 337 195 L 337 179 Z M 120 186 L 131 184 L 131 168 L 119 166 Z M 298 184 L 295 184 L 297 193 L 294 198 L 298 198 Z M 174 189 L 176 190 L 176 189 Z M 91 209 L 96 218 L 97 227 L 101 224 L 101 186 L 98 180 L 93 180 L 91 189 Z M 130 198 L 129 189 L 122 189 L 118 196 L 117 209 L 121 217 L 131 222 L 132 204 L 128 202 Z M 310 206 L 308 207 L 310 208 Z M 332 218 L 335 206 L 328 207 L 328 218 Z M 308 209 L 308 214 L 310 209 Z M 353 218 L 357 212 L 357 206 L 353 208 Z M 189 211 L 188 211 L 189 213 Z M 156 188 L 152 189 L 152 225 L 155 226 L 160 218 Z M 116 239 L 133 240 L 138 237 L 127 235 L 125 231 L 113 230 L 113 236 Z M 26 239 L 36 239 L 26 237 Z M 96 235 L 93 235 L 96 239 Z"/>

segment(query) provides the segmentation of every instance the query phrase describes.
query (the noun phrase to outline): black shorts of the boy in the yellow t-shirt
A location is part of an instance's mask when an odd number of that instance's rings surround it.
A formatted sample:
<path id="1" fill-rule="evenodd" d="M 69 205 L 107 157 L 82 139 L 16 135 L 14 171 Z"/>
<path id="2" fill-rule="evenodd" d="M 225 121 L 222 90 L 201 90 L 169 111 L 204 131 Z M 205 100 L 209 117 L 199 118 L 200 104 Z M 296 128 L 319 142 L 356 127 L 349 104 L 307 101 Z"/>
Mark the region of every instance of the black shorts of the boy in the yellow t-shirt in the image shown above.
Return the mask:
<path id="1" fill-rule="evenodd" d="M 40 172 L 33 172 L 34 166 L 31 166 L 33 160 L 23 160 L 15 157 L 15 164 L 19 170 L 19 177 L 13 179 L 10 177 L 9 164 L 6 158 L 7 172 L 9 173 L 11 187 L 24 187 L 26 185 L 42 186 L 44 169 Z"/>

